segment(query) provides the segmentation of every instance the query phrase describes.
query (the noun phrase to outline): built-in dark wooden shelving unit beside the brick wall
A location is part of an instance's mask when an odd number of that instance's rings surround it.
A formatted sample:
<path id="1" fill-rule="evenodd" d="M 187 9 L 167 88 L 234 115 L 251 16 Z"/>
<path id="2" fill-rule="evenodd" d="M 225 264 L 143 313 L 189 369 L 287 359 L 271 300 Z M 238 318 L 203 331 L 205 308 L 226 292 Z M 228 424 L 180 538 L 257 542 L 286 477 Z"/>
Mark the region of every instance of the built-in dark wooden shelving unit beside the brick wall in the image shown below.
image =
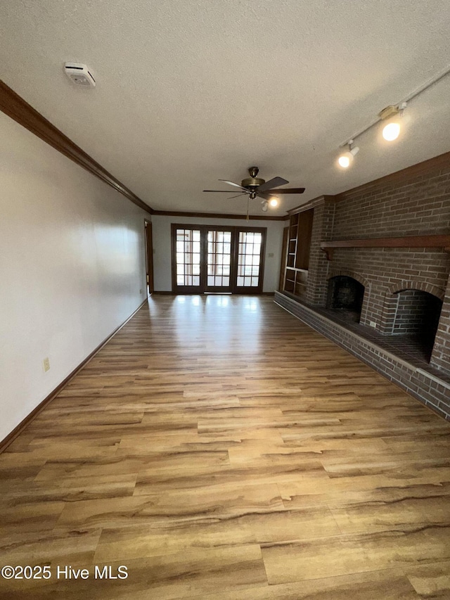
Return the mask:
<path id="1" fill-rule="evenodd" d="M 313 215 L 314 209 L 297 212 L 289 222 L 283 289 L 300 297 L 307 289 Z"/>

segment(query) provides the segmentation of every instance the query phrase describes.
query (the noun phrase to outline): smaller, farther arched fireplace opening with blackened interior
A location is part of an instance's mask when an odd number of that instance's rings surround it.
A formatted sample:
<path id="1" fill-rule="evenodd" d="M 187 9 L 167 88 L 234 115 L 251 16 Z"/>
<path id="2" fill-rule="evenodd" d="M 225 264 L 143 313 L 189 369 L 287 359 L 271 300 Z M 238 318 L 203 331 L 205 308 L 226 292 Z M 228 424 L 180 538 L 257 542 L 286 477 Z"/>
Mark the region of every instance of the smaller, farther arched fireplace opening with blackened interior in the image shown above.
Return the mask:
<path id="1" fill-rule="evenodd" d="M 341 317 L 359 323 L 364 286 L 353 277 L 337 275 L 328 280 L 326 307 L 339 311 Z"/>

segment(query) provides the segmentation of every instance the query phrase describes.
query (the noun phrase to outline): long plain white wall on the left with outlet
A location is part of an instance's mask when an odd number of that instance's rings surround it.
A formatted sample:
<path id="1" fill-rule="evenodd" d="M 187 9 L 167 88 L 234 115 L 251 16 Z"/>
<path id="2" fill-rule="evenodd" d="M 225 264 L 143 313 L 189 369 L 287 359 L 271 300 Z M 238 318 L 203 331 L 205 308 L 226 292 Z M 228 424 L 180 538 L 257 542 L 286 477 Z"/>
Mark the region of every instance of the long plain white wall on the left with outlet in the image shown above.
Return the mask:
<path id="1" fill-rule="evenodd" d="M 3 113 L 0 139 L 2 440 L 146 298 L 150 215 Z"/>

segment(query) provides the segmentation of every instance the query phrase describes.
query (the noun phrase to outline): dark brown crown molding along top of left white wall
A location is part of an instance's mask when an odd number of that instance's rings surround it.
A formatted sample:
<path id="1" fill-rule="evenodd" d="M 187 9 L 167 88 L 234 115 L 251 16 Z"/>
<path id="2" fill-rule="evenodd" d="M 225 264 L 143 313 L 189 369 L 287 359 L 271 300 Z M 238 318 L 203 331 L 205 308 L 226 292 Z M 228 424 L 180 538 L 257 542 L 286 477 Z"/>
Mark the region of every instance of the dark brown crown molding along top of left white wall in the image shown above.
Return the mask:
<path id="1" fill-rule="evenodd" d="M 77 163 L 80 167 L 86 169 L 91 174 L 101 179 L 105 184 L 111 186 L 113 189 L 118 191 L 131 200 L 132 203 L 139 206 L 150 215 L 153 213 L 153 209 L 148 206 L 139 196 L 136 196 L 131 190 L 124 186 L 118 179 L 113 177 L 112 174 L 108 173 L 107 170 L 103 169 L 91 158 L 89 154 L 86 154 L 76 143 L 74 143 L 68 136 L 65 136 L 63 132 L 52 125 L 49 120 L 38 113 L 30 104 L 25 102 L 18 94 L 15 93 L 10 87 L 0 80 L 0 110 L 11 117 L 11 119 L 17 121 L 20 125 L 32 132 L 40 139 L 44 140 L 50 146 L 58 150 L 61 154 L 70 158 Z"/>

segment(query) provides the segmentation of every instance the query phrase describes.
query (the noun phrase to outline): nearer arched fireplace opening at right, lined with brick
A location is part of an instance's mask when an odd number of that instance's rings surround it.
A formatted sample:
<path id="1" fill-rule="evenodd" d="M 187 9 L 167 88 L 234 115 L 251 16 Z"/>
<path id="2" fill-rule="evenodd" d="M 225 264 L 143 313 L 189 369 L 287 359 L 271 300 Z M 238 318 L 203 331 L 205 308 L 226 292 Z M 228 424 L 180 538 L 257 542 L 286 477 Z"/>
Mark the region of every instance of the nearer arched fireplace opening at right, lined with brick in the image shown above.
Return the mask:
<path id="1" fill-rule="evenodd" d="M 442 300 L 421 290 L 402 290 L 397 292 L 397 312 L 392 333 L 405 336 L 416 345 L 430 361 Z"/>

